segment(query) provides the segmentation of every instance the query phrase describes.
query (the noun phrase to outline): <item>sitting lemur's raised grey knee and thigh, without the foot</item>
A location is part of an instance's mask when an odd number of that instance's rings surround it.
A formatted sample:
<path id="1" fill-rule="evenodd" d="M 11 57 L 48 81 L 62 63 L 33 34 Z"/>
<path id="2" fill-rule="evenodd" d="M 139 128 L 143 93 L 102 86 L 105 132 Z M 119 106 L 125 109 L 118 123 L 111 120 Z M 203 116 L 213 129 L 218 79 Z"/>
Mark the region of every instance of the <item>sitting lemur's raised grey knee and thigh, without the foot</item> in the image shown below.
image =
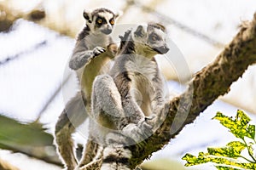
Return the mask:
<path id="1" fill-rule="evenodd" d="M 126 125 L 121 96 L 113 78 L 109 75 L 97 76 L 92 88 L 91 115 L 93 119 L 102 127 L 113 128 L 114 130 Z M 113 124 L 109 124 L 109 121 Z"/>

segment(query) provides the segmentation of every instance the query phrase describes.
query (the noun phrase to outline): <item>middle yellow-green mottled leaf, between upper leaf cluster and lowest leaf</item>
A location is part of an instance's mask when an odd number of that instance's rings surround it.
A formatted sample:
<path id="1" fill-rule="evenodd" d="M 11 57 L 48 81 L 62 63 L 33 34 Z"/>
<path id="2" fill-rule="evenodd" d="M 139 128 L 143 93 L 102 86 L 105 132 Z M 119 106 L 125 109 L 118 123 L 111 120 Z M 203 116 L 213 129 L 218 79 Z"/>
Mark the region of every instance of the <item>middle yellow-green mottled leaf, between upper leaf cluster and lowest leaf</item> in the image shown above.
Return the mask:
<path id="1" fill-rule="evenodd" d="M 208 148 L 208 153 L 212 156 L 226 156 L 230 158 L 237 158 L 241 155 L 241 150 L 246 148 L 246 144 L 239 141 L 230 142 L 225 147 L 221 148 Z"/>

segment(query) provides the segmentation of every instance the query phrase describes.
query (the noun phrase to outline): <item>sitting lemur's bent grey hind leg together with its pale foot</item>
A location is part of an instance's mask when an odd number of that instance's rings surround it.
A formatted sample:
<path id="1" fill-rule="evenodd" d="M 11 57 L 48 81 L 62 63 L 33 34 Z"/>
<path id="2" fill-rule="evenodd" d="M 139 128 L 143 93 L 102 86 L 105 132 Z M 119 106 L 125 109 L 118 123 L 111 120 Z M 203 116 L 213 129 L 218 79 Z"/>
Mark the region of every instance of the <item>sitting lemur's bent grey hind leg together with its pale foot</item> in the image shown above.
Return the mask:
<path id="1" fill-rule="evenodd" d="M 96 121 L 100 121 L 102 127 L 109 127 L 109 124 L 112 124 L 119 133 L 133 139 L 136 143 L 148 138 L 152 134 L 152 126 L 148 124 L 150 118 L 144 117 L 138 123 L 130 123 L 129 117 L 125 116 L 134 113 L 125 114 L 124 107 L 113 78 L 109 75 L 96 77 L 92 92 L 92 116 L 95 116 Z M 111 120 L 106 121 L 108 117 Z"/>

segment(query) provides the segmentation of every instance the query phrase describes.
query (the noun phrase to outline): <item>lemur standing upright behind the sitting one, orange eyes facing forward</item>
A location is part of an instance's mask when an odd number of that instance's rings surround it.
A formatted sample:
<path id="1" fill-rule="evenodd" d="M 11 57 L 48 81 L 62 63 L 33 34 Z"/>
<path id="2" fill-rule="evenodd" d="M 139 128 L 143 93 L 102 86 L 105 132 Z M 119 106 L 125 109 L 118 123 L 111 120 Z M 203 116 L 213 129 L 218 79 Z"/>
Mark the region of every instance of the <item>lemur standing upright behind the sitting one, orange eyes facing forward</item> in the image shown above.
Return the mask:
<path id="1" fill-rule="evenodd" d="M 81 89 L 67 103 L 55 125 L 57 150 L 69 170 L 77 166 L 72 133 L 75 127 L 84 122 L 86 112 L 90 114 L 92 83 L 97 75 L 102 74 L 102 66 L 113 59 L 117 51 L 109 34 L 118 17 L 119 14 L 114 14 L 107 8 L 97 8 L 92 12 L 84 10 L 86 26 L 79 33 L 69 62 L 69 67 L 77 73 Z"/>

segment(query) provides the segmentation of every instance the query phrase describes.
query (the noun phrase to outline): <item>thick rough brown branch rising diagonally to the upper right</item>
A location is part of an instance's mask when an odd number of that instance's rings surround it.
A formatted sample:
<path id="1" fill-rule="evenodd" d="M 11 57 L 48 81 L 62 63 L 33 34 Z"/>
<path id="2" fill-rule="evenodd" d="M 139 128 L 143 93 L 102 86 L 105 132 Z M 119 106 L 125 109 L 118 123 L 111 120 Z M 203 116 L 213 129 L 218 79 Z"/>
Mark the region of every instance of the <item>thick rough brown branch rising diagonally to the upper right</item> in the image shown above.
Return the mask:
<path id="1" fill-rule="evenodd" d="M 163 109 L 166 120 L 143 142 L 143 147 L 139 144 L 130 146 L 131 169 L 175 138 L 185 125 L 194 122 L 201 111 L 207 109 L 218 96 L 229 92 L 232 82 L 236 82 L 247 67 L 255 62 L 256 14 L 251 23 L 241 27 L 241 31 L 217 59 L 195 75 L 187 91 L 166 104 Z"/>

